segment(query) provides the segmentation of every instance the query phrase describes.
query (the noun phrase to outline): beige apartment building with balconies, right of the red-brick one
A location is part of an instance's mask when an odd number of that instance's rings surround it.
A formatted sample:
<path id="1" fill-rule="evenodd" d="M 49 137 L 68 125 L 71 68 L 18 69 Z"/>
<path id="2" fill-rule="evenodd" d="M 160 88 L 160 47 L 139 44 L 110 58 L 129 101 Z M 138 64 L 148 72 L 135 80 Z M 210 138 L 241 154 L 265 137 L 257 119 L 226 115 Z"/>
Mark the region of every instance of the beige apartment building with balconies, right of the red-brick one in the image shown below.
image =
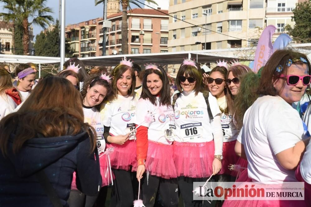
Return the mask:
<path id="1" fill-rule="evenodd" d="M 170 0 L 169 51 L 256 46 L 273 24 L 276 38 L 304 0 Z M 186 21 L 183 22 L 182 20 Z"/>

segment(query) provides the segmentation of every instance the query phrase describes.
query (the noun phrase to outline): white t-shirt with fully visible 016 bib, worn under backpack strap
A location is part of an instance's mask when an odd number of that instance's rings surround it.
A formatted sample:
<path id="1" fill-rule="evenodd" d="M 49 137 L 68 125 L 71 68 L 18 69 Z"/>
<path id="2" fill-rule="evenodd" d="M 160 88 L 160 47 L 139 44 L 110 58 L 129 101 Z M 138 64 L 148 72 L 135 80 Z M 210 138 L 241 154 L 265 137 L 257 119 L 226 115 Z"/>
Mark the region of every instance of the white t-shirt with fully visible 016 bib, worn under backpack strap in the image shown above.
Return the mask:
<path id="1" fill-rule="evenodd" d="M 213 117 L 219 115 L 220 109 L 217 100 L 209 93 L 208 102 Z M 207 105 L 201 92 L 180 93 L 174 105 L 175 114 L 175 141 L 177 142 L 210 142 L 213 133 L 207 113 Z"/>

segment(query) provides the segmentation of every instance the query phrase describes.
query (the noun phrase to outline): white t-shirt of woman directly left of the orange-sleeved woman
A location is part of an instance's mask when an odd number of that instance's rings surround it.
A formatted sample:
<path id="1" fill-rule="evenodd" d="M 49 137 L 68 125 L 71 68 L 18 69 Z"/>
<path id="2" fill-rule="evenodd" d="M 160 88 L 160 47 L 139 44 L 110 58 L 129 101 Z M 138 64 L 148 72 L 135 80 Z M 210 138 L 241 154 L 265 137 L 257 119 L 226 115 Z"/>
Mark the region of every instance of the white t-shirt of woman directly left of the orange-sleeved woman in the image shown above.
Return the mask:
<path id="1" fill-rule="evenodd" d="M 103 106 L 100 114 L 104 120 L 104 126 L 110 126 L 110 134 L 114 136 L 125 135 L 132 131 L 129 139 L 136 139 L 134 123 L 137 102 L 138 94 L 135 94 L 134 98 L 118 95 L 117 99 Z"/>

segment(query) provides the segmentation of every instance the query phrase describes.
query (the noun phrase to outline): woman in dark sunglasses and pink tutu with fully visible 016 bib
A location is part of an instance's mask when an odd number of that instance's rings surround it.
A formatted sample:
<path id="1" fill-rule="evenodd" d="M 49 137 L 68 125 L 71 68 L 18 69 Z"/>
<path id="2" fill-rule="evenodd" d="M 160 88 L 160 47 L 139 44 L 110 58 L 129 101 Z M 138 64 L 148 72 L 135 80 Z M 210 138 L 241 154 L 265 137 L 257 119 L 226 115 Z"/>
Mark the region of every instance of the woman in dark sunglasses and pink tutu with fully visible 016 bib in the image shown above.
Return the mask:
<path id="1" fill-rule="evenodd" d="M 199 206 L 193 200 L 193 182 L 205 182 L 222 173 L 223 132 L 220 110 L 214 96 L 204 91 L 199 64 L 185 59 L 177 73 L 179 91 L 173 96 L 175 114 L 174 164 L 184 205 Z M 204 202 L 203 206 L 210 206 Z"/>

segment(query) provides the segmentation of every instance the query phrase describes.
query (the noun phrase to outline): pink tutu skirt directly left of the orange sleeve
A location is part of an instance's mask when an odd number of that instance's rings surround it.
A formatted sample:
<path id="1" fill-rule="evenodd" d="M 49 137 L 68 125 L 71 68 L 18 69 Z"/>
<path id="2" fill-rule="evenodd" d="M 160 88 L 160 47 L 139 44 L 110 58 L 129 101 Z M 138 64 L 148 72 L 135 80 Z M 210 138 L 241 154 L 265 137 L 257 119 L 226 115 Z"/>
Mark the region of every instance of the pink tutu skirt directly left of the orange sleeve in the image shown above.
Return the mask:
<path id="1" fill-rule="evenodd" d="M 106 148 L 110 147 L 115 147 L 114 151 L 109 154 L 111 168 L 128 171 L 132 166 L 132 171 L 137 170 L 136 142 L 134 140 L 128 140 L 123 145 L 107 143 Z"/>

